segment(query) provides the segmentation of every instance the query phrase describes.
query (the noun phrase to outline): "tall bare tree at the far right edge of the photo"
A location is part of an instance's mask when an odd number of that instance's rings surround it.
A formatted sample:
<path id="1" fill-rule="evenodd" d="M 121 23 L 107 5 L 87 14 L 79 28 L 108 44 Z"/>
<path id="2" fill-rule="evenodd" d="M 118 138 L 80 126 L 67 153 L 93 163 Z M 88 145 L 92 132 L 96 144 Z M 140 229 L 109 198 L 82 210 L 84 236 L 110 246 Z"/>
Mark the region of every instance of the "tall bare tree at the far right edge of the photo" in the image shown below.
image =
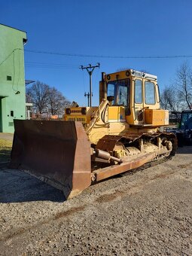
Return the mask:
<path id="1" fill-rule="evenodd" d="M 192 105 L 192 70 L 187 62 L 184 62 L 177 70 L 176 88 L 183 108 L 189 108 Z"/>

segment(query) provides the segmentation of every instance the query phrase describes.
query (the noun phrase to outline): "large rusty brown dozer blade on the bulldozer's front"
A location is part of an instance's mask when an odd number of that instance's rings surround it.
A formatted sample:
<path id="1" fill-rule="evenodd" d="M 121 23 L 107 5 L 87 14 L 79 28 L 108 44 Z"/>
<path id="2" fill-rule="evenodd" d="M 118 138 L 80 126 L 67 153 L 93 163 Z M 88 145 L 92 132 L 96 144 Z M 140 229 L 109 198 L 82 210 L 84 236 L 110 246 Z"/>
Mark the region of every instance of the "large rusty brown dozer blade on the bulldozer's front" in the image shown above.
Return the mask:
<path id="1" fill-rule="evenodd" d="M 82 123 L 59 120 L 14 120 L 10 167 L 75 197 L 91 183 L 90 141 Z"/>

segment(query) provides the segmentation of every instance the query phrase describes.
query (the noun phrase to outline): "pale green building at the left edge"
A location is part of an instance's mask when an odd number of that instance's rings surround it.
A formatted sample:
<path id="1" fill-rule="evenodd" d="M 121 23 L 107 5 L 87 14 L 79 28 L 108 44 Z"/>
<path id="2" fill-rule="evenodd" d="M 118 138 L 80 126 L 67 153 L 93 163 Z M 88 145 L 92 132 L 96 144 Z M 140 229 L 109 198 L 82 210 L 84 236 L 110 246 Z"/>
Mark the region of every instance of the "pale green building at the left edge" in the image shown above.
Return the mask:
<path id="1" fill-rule="evenodd" d="M 0 24 L 0 133 L 14 133 L 14 119 L 26 119 L 25 43 L 26 32 Z"/>

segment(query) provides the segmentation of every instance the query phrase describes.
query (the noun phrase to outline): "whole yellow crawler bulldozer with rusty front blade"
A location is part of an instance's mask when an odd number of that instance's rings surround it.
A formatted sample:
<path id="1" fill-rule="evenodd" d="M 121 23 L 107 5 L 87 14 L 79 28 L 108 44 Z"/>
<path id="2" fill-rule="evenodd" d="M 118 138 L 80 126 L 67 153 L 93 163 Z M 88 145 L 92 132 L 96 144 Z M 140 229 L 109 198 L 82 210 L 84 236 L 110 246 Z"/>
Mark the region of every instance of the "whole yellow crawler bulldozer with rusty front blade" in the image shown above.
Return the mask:
<path id="1" fill-rule="evenodd" d="M 66 108 L 64 120 L 14 120 L 11 168 L 72 198 L 97 181 L 173 156 L 175 135 L 160 133 L 168 124 L 157 76 L 102 73 L 99 106 Z"/>

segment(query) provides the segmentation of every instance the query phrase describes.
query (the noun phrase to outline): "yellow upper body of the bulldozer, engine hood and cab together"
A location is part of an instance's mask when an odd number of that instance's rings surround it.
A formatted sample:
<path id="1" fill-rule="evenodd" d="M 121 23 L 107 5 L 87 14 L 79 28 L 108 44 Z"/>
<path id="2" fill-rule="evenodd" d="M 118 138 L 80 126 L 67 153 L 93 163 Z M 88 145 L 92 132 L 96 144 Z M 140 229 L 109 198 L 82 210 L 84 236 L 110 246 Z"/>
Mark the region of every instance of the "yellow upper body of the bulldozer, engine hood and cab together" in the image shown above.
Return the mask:
<path id="1" fill-rule="evenodd" d="M 110 126 L 116 127 L 112 129 L 113 133 L 116 133 L 114 130 L 119 131 L 117 123 L 126 128 L 127 125 L 137 126 L 138 129 L 156 129 L 169 124 L 169 111 L 160 109 L 159 87 L 155 75 L 133 69 L 108 75 L 102 73 L 102 81 L 99 82 L 99 105 L 102 105 L 103 100 L 108 105 L 102 112 L 102 123 L 99 125 L 113 123 Z M 67 108 L 64 120 L 81 121 L 85 127 L 89 126 L 99 108 Z M 110 127 L 109 134 L 112 133 Z"/>

